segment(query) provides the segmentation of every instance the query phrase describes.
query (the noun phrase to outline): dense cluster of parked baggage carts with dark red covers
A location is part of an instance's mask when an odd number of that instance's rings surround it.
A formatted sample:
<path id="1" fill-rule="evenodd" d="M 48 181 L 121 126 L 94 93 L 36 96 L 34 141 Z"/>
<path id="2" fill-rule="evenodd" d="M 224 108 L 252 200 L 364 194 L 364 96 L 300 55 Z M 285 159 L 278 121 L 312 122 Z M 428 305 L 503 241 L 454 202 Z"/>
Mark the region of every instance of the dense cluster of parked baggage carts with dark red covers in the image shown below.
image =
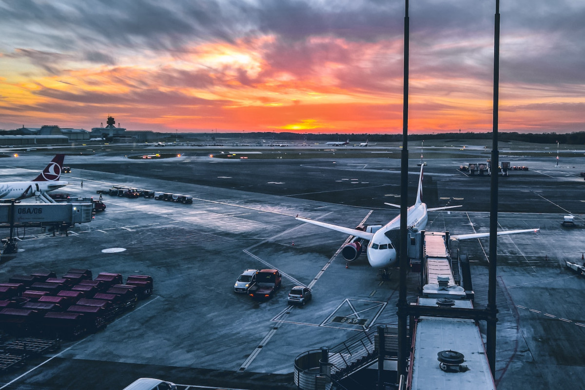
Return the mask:
<path id="1" fill-rule="evenodd" d="M 17 336 L 42 334 L 74 339 L 97 332 L 140 299 L 153 293 L 148 275 L 71 269 L 58 278 L 54 272 L 14 275 L 0 283 L 0 330 Z"/>

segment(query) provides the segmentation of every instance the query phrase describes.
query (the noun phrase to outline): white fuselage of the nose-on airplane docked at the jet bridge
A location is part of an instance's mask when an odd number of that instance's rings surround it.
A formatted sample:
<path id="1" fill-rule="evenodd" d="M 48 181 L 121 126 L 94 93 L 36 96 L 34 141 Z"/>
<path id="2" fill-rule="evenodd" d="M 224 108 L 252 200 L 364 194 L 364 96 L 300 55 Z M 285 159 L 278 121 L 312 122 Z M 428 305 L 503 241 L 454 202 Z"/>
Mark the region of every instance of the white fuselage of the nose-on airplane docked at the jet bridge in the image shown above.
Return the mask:
<path id="1" fill-rule="evenodd" d="M 423 230 L 426 227 L 428 216 L 426 203 L 418 203 L 408 208 L 407 226 Z M 386 225 L 374 233 L 367 246 L 367 261 L 374 268 L 395 267 L 398 265 L 398 257 L 395 244 L 386 236 L 389 230 L 400 230 L 400 215 L 396 216 Z"/>

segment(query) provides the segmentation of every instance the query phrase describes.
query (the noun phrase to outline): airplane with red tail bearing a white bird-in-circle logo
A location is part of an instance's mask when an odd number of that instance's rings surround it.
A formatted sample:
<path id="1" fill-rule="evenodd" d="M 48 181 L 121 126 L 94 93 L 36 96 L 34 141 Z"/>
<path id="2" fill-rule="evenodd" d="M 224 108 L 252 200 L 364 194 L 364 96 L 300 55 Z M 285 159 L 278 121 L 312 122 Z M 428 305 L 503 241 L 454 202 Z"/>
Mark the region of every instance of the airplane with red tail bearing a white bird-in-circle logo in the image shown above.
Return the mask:
<path id="1" fill-rule="evenodd" d="M 63 168 L 64 154 L 57 154 L 44 170 L 32 181 L 9 181 L 0 183 L 0 199 L 24 199 L 49 192 L 69 184 L 59 180 Z"/>

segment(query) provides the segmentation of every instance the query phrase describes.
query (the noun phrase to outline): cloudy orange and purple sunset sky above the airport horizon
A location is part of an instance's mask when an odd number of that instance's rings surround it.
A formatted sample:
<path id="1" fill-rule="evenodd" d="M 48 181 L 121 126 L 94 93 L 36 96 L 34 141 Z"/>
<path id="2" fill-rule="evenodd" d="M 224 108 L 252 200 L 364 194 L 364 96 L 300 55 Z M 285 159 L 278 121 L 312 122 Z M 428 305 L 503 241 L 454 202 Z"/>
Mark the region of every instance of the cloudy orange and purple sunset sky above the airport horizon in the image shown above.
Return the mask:
<path id="1" fill-rule="evenodd" d="M 491 130 L 494 13 L 411 0 L 410 132 Z M 500 13 L 500 130 L 585 130 L 585 1 Z M 402 131 L 404 0 L 0 0 L 0 16 L 0 129 Z"/>

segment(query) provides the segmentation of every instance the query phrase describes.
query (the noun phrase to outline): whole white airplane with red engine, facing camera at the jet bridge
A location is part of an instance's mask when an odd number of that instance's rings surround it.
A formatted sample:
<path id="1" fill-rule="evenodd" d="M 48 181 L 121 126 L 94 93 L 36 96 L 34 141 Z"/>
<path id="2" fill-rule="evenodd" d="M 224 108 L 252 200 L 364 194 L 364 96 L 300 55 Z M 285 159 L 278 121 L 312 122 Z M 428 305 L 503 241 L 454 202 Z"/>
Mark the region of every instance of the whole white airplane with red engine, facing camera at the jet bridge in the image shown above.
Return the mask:
<path id="1" fill-rule="evenodd" d="M 421 201 L 422 194 L 422 171 L 424 165 L 421 166 L 421 174 L 418 179 L 418 192 L 417 201 L 414 205 L 408 208 L 407 213 L 407 227 L 413 230 L 425 230 L 428 216 L 428 211 L 445 210 L 461 206 L 445 206 L 437 208 L 426 208 L 426 203 Z M 400 205 L 394 205 L 393 203 L 384 203 L 386 205 L 400 208 Z M 342 249 L 342 256 L 347 261 L 356 260 L 357 257 L 362 253 L 361 240 L 369 241 L 367 244 L 366 254 L 367 260 L 370 265 L 374 268 L 385 268 L 395 267 L 398 265 L 399 259 L 397 257 L 395 245 L 392 243 L 390 237 L 388 237 L 391 231 L 395 231 L 394 237 L 398 237 L 400 232 L 400 215 L 396 216 L 390 222 L 384 226 L 368 226 L 365 230 L 351 229 L 350 227 L 343 227 L 338 225 L 332 225 L 331 223 L 319 222 L 316 220 L 302 218 L 297 215 L 295 219 L 302 222 L 312 223 L 313 225 L 326 227 L 327 229 L 336 230 L 337 232 L 346 233 L 350 236 L 354 236 L 355 239 L 349 244 L 346 244 Z M 377 230 L 376 230 L 377 229 Z M 524 229 L 524 230 L 505 230 L 498 232 L 498 236 L 503 234 L 514 234 L 514 233 L 526 233 L 526 232 L 538 232 L 540 229 Z M 452 239 L 457 240 L 468 240 L 476 239 L 480 237 L 488 237 L 490 233 L 472 233 L 472 234 L 458 234 L 451 236 Z"/>

